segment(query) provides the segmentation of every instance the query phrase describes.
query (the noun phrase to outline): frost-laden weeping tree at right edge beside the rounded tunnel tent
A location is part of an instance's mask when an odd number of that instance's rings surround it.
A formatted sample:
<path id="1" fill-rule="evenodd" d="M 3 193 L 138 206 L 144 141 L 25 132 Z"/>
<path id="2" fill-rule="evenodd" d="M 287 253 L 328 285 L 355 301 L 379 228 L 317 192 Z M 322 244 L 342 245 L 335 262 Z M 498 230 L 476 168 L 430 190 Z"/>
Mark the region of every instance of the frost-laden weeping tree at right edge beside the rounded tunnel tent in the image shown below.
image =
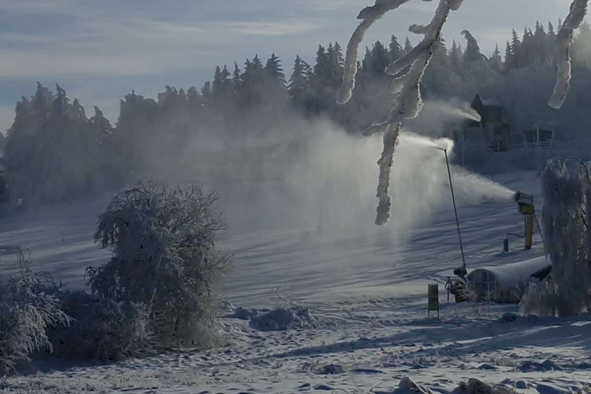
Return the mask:
<path id="1" fill-rule="evenodd" d="M 554 158 L 543 172 L 543 236 L 552 262 L 550 282 L 531 286 L 522 312 L 576 315 L 591 311 L 591 163 Z"/>

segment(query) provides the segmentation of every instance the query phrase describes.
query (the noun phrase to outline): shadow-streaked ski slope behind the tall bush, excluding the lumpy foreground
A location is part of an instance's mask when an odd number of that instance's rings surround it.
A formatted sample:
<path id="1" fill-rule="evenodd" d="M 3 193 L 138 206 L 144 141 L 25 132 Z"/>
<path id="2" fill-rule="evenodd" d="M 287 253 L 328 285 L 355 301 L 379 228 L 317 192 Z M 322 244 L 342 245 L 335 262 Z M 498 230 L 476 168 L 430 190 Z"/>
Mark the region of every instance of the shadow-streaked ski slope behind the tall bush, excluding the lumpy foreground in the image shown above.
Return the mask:
<path id="1" fill-rule="evenodd" d="M 539 195 L 540 180 L 534 172 L 499 180 L 513 190 Z M 92 241 L 96 217 L 109 197 L 14 214 L 0 223 L 0 244 L 20 245 L 33 261 L 32 268 L 81 288 L 86 267 L 102 264 L 109 256 L 108 250 Z M 502 253 L 505 234 L 523 232 L 515 203 L 467 201 L 459 205 L 458 214 L 468 268 L 543 254 L 538 236 L 528 251 L 522 250 L 521 240 L 511 237 L 511 252 Z M 223 197 L 219 205 L 229 218 L 229 235 L 222 247 L 235 255 L 222 297 L 246 307 L 272 307 L 277 294 L 294 302 L 322 305 L 412 300 L 424 295 L 427 282 L 452 275 L 451 270 L 462 265 L 450 195 L 441 196 L 439 210 L 395 233 L 374 226 L 371 216 L 362 223 L 365 226 L 359 224 L 358 231 L 343 234 L 330 222 L 322 230 L 318 226 L 267 225 L 256 207 L 249 206 L 248 211 L 237 207 L 241 212 L 233 212 Z M 4 272 L 18 269 L 12 256 L 4 256 L 2 266 Z"/>

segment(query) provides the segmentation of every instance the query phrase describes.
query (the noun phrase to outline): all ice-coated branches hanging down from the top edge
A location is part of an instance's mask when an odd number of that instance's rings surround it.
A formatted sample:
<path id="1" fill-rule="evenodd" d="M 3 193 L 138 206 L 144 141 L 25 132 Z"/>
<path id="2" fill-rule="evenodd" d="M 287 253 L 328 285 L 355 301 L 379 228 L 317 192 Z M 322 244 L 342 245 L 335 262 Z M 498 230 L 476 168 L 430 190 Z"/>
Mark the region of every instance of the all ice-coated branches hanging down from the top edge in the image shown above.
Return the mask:
<path id="1" fill-rule="evenodd" d="M 366 7 L 359 12 L 358 19 L 362 19 L 353 32 L 345 60 L 343 82 L 340 86 L 337 103 L 344 104 L 352 96 L 355 87 L 357 73 L 358 48 L 363 40 L 365 32 L 382 18 L 388 11 L 399 8 L 411 0 L 376 0 L 373 6 Z M 431 0 L 423 0 L 431 1 Z M 428 25 L 410 25 L 409 31 L 415 34 L 423 34 L 424 38 L 409 53 L 389 64 L 386 73 L 395 76 L 392 81 L 391 112 L 384 122 L 370 126 L 363 134 L 373 135 L 384 133 L 384 151 L 378 160 L 379 180 L 376 197 L 379 203 L 375 223 L 382 225 L 388 222 L 390 217 L 391 198 L 389 196 L 389 178 L 392 167 L 392 155 L 397 145 L 398 134 L 402 128 L 404 119 L 415 118 L 423 108 L 420 93 L 420 83 L 423 74 L 433 57 L 438 45 L 441 44 L 441 28 L 447 20 L 450 11 L 456 11 L 462 5 L 463 0 L 440 0 L 437 10 Z M 570 87 L 570 46 L 573 43 L 573 31 L 579 27 L 587 12 L 588 0 L 573 0 L 570 12 L 563 26 L 557 34 L 557 46 L 560 49 L 558 56 L 558 77 L 553 95 L 548 102 L 553 108 L 560 108 L 566 99 Z M 470 36 L 471 37 L 471 36 Z M 466 31 L 466 38 L 470 38 Z"/>

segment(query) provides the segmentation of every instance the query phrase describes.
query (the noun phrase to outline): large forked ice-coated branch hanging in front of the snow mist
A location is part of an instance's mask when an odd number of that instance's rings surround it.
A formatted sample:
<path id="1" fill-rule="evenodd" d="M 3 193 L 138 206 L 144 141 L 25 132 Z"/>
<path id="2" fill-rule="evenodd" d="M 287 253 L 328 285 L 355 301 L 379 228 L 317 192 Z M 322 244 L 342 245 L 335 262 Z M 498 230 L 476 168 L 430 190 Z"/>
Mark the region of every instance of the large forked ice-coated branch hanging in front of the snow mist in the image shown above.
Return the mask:
<path id="1" fill-rule="evenodd" d="M 351 97 L 355 85 L 357 47 L 365 31 L 386 12 L 398 8 L 407 1 L 409 0 L 377 0 L 374 6 L 363 9 L 359 14 L 358 18 L 363 21 L 353 33 L 347 46 L 345 76 L 343 76 L 343 83 L 340 87 L 338 103 L 345 103 Z M 441 44 L 441 28 L 443 28 L 447 15 L 450 11 L 458 9 L 462 2 L 463 0 L 440 0 L 435 15 L 428 25 L 411 25 L 408 30 L 415 34 L 423 34 L 423 40 L 409 53 L 392 62 L 386 69 L 388 74 L 397 76 L 392 81 L 392 95 L 395 98 L 391 112 L 384 122 L 370 126 L 364 133 L 364 135 L 384 133 L 384 151 L 378 161 L 379 180 L 376 197 L 378 197 L 379 203 L 375 220 L 378 225 L 387 223 L 390 217 L 390 171 L 392 155 L 397 145 L 402 121 L 415 118 L 423 108 L 419 89 L 421 79 L 423 79 L 423 74 L 433 53 Z"/>

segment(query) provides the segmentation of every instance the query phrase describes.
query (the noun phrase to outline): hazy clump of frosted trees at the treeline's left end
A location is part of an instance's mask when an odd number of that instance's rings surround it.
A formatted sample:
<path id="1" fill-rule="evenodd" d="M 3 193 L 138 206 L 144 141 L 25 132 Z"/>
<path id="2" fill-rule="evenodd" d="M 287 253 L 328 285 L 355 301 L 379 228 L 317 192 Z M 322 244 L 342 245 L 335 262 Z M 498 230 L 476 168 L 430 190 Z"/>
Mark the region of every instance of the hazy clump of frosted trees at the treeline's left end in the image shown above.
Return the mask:
<path id="1" fill-rule="evenodd" d="M 77 100 L 38 83 L 30 100 L 17 103 L 8 130 L 3 165 L 11 199 L 55 203 L 100 190 L 108 181 L 103 138 Z"/>

